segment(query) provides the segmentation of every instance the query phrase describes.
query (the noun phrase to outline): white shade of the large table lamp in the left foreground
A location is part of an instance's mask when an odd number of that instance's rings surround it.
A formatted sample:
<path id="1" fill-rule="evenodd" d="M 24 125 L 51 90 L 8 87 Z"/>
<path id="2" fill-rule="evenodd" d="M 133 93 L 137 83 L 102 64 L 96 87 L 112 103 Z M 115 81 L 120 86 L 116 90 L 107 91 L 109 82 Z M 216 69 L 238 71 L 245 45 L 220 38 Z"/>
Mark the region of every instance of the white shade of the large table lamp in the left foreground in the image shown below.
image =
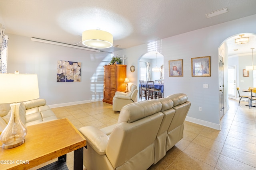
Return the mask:
<path id="1" fill-rule="evenodd" d="M 0 103 L 39 98 L 37 74 L 0 74 Z"/>

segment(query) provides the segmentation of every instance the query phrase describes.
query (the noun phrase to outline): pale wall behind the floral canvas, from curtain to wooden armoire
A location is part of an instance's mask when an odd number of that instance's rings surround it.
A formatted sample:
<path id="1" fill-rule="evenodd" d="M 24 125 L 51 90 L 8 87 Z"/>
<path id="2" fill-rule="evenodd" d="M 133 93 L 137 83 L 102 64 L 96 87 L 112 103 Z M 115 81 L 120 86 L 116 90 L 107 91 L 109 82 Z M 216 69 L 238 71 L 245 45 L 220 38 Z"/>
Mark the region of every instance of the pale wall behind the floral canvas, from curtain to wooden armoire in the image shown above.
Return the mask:
<path id="1" fill-rule="evenodd" d="M 110 62 L 110 53 L 40 43 L 19 35 L 8 37 L 7 72 L 38 74 L 40 98 L 48 105 L 102 100 L 103 65 Z M 81 82 L 56 82 L 58 60 L 81 62 Z"/>

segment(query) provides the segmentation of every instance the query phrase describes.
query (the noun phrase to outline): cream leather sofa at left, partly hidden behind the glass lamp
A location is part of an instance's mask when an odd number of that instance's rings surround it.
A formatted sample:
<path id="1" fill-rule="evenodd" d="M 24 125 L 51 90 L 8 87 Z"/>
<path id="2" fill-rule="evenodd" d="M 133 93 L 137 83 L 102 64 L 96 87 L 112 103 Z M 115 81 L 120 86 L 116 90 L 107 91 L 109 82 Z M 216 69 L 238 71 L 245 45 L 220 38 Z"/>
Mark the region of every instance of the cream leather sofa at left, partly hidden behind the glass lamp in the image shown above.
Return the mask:
<path id="1" fill-rule="evenodd" d="M 54 112 L 46 105 L 46 100 L 44 99 L 20 102 L 19 111 L 20 119 L 26 126 L 57 119 Z M 10 104 L 0 104 L 0 132 L 6 127 L 10 116 Z"/>

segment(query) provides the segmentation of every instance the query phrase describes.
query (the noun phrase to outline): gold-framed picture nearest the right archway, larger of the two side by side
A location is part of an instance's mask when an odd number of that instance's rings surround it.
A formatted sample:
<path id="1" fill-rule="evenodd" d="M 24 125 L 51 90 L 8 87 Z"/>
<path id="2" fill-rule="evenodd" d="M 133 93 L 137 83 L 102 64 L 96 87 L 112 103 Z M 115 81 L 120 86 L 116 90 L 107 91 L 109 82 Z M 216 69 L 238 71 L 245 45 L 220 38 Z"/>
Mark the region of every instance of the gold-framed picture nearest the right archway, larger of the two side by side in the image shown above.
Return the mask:
<path id="1" fill-rule="evenodd" d="M 210 77 L 211 76 L 211 57 L 191 58 L 192 77 Z"/>

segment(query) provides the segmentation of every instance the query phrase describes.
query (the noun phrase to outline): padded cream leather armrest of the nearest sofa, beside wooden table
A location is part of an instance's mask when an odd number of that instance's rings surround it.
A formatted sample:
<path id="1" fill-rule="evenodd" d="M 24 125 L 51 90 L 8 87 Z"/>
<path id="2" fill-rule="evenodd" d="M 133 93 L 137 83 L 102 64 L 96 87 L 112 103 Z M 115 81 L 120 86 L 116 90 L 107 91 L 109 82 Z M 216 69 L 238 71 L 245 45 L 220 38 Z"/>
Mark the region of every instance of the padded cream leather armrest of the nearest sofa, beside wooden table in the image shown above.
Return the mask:
<path id="1" fill-rule="evenodd" d="M 98 154 L 106 154 L 108 136 L 93 126 L 81 127 L 79 131 L 86 138 L 86 143 L 90 145 Z"/>

